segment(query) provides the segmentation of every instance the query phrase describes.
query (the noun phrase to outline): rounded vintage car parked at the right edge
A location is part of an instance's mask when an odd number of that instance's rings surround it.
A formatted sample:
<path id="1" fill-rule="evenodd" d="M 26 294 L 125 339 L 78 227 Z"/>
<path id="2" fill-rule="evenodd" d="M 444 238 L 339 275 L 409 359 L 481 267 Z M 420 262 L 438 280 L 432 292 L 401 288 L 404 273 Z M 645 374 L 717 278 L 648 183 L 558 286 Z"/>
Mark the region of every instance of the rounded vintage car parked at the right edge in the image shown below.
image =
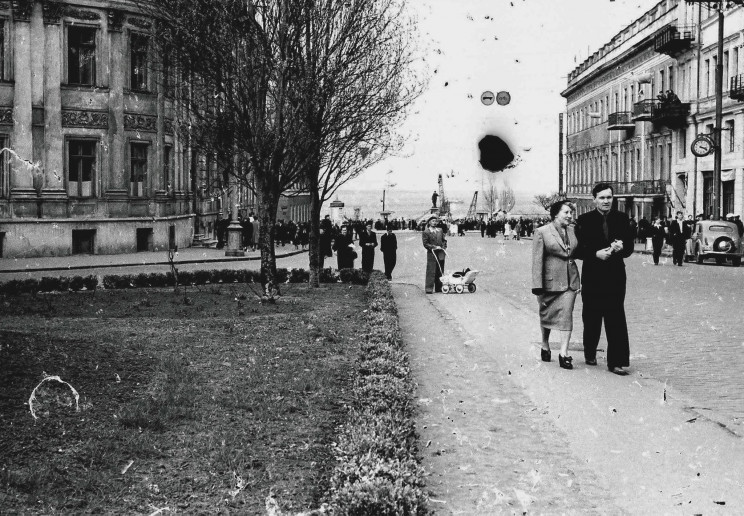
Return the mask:
<path id="1" fill-rule="evenodd" d="M 742 255 L 744 249 L 736 224 L 727 220 L 700 220 L 693 227 L 692 243 L 685 250 L 685 261 L 694 259 L 703 263 L 706 258 L 715 258 L 719 265 L 731 260 L 731 265 L 738 267 Z"/>

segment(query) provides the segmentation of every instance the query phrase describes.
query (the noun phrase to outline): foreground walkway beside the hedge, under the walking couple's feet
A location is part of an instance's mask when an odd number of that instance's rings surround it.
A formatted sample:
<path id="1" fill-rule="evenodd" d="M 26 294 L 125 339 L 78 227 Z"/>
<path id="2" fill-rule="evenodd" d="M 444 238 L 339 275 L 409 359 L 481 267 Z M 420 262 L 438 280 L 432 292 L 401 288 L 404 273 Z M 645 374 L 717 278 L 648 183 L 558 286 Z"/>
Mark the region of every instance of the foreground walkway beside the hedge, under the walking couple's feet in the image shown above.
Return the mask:
<path id="1" fill-rule="evenodd" d="M 393 292 L 438 514 L 744 514 L 742 438 L 632 363 L 541 362 L 536 313 L 487 285 Z"/>

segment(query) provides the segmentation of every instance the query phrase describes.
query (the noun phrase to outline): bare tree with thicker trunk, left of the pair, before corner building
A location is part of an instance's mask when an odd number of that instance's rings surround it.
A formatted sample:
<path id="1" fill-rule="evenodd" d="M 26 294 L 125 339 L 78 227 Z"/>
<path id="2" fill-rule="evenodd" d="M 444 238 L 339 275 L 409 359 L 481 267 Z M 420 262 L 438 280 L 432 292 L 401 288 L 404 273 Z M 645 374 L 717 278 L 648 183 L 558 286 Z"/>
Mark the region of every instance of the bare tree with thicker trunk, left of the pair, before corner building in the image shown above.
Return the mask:
<path id="1" fill-rule="evenodd" d="M 307 131 L 293 93 L 302 87 L 298 48 L 304 2 L 138 0 L 157 22 L 158 53 L 175 64 L 174 100 L 193 141 L 255 189 L 261 283 L 278 292 L 273 227 L 279 197 L 301 184 Z M 169 77 L 171 71 L 164 70 Z"/>

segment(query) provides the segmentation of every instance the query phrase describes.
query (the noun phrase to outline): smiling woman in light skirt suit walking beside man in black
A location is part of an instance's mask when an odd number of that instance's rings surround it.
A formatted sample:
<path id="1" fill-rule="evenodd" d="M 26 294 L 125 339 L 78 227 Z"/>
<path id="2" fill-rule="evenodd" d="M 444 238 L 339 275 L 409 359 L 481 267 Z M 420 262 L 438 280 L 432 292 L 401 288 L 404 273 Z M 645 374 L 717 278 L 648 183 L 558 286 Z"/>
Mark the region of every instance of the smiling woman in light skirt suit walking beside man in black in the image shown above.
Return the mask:
<path id="1" fill-rule="evenodd" d="M 558 364 L 573 369 L 568 343 L 573 331 L 573 309 L 581 287 L 579 268 L 574 262 L 577 240 L 571 223 L 574 208 L 568 201 L 550 206 L 551 223 L 535 231 L 532 240 L 532 293 L 537 296 L 542 331 L 543 362 L 550 362 L 550 331 L 561 334 Z"/>

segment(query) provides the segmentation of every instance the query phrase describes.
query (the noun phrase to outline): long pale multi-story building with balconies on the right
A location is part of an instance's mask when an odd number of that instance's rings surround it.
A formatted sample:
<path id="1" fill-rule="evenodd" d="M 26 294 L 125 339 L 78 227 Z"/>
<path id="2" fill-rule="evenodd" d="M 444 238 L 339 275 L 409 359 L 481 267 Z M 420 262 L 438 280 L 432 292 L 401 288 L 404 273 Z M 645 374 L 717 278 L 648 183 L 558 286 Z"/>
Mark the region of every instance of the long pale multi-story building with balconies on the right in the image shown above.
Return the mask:
<path id="1" fill-rule="evenodd" d="M 662 0 L 569 73 L 561 184 L 579 213 L 599 181 L 636 220 L 712 213 L 713 155 L 697 158 L 690 144 L 714 133 L 716 4 Z M 726 11 L 725 28 L 724 215 L 744 204 L 744 7 Z"/>

